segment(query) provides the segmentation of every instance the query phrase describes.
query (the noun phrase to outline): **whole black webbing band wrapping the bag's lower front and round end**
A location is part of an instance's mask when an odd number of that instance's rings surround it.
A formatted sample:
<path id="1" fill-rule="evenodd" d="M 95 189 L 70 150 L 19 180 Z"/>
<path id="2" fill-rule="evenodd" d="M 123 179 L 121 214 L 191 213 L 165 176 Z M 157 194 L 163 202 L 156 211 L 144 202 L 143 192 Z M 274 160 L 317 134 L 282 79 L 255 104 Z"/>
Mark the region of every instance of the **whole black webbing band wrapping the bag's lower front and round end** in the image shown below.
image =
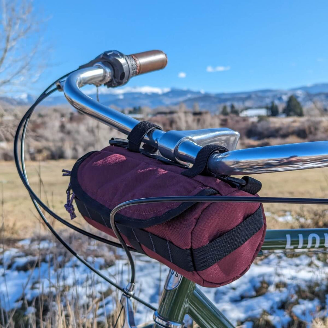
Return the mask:
<path id="1" fill-rule="evenodd" d="M 75 202 L 83 216 L 89 217 L 93 221 L 111 229 L 109 217 L 86 207 L 79 199 L 75 198 Z M 144 253 L 141 248 L 141 245 L 144 245 L 179 268 L 193 272 L 211 267 L 254 236 L 263 227 L 263 214 L 262 207 L 260 206 L 255 213 L 247 217 L 235 228 L 197 249 L 179 248 L 171 241 L 160 238 L 143 229 L 132 229 L 123 224 L 117 224 L 117 227 L 120 233 L 129 239 L 131 245 L 139 253 Z"/>

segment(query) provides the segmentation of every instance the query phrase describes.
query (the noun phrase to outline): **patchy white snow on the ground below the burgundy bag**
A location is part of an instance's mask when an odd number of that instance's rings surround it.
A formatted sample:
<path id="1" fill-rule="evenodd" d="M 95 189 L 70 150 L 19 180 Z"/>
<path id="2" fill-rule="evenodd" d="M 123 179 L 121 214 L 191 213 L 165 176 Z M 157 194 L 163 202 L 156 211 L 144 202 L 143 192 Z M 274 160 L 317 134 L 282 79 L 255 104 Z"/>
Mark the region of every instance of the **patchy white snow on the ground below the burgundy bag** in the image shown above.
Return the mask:
<path id="1" fill-rule="evenodd" d="M 104 247 L 104 246 L 102 246 Z M 74 299 L 79 306 L 96 297 L 102 298 L 97 310 L 98 320 L 112 313 L 120 293 L 96 276 L 76 258 L 61 253 L 53 257 L 58 249 L 47 240 L 31 242 L 23 240 L 2 250 L 0 256 L 0 307 L 10 310 L 22 306 L 22 296 L 27 300 L 52 291 L 65 290 L 65 299 Z M 40 264 L 38 256 L 31 251 L 43 251 Z M 97 244 L 89 250 L 100 250 Z M 1 248 L 0 248 L 1 251 Z M 111 253 L 113 265 L 108 265 L 105 256 L 86 255 L 86 259 L 103 274 L 125 287 L 129 266 L 122 250 L 103 248 L 99 253 Z M 1 255 L 0 253 L 0 255 Z M 113 254 L 112 254 L 113 253 Z M 136 255 L 136 295 L 157 307 L 168 268 L 147 256 Z M 310 325 L 314 318 L 327 316 L 328 265 L 319 261 L 318 255 L 300 254 L 297 257 L 281 253 L 268 254 L 257 260 L 250 270 L 233 283 L 220 288 L 203 288 L 203 293 L 217 306 L 233 324 L 260 318 L 266 314 L 276 327 L 286 327 L 293 317 Z M 65 302 L 65 299 L 63 302 Z M 33 313 L 29 304 L 26 313 Z M 136 322 L 152 319 L 153 312 L 142 304 L 136 307 Z M 245 327 L 252 327 L 245 322 Z"/>

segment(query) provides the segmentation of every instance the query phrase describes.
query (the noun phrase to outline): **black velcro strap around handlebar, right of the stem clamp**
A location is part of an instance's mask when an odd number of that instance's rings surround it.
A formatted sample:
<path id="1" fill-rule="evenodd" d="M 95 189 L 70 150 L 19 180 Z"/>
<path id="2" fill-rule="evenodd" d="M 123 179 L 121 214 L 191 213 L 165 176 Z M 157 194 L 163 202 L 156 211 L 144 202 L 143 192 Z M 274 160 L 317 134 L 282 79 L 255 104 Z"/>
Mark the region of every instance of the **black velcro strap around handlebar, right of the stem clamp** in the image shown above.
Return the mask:
<path id="1" fill-rule="evenodd" d="M 225 153 L 227 151 L 228 149 L 223 146 L 206 145 L 198 152 L 193 167 L 183 171 L 181 174 L 189 177 L 194 177 L 198 174 L 211 175 L 207 169 L 208 159 L 214 152 Z"/>

